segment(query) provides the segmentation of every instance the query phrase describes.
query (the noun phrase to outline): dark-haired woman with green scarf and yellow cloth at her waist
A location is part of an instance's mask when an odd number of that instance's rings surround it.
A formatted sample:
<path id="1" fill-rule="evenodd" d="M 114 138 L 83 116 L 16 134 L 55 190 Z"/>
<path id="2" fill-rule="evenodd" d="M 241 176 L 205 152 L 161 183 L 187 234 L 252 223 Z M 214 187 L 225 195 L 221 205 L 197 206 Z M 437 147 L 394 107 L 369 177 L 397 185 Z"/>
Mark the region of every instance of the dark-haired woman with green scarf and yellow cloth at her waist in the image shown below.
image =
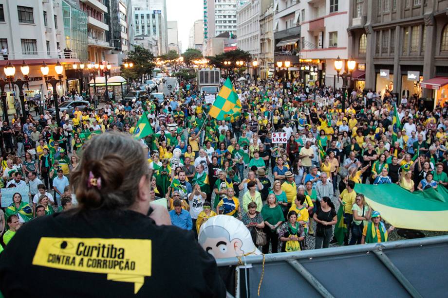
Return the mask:
<path id="1" fill-rule="evenodd" d="M 300 241 L 305 239 L 303 226 L 297 221 L 297 212 L 288 212 L 288 221 L 283 223 L 279 229 L 279 250 L 291 252 L 300 250 Z"/>

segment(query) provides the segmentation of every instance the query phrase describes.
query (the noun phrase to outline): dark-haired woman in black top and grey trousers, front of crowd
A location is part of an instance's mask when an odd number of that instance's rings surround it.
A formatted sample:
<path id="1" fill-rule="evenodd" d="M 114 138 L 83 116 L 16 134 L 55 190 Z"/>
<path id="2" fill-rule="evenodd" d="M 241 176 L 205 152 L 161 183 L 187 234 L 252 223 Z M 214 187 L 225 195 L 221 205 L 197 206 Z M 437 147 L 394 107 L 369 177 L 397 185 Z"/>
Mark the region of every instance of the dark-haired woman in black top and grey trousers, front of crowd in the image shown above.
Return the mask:
<path id="1" fill-rule="evenodd" d="M 322 197 L 313 219 L 317 223 L 315 249 L 327 248 L 333 237 L 332 226 L 337 222 L 335 205 L 328 196 Z"/>

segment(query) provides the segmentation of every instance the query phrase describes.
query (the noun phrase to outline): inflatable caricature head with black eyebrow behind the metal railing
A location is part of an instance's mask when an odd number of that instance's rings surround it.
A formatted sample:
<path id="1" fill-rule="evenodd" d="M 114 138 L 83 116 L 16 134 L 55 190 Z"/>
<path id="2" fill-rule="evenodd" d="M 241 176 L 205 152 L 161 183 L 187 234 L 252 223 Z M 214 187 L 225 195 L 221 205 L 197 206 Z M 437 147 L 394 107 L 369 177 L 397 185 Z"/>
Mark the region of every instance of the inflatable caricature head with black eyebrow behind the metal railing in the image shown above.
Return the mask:
<path id="1" fill-rule="evenodd" d="M 199 244 L 215 259 L 260 255 L 249 229 L 242 221 L 228 215 L 211 217 L 201 226 Z"/>

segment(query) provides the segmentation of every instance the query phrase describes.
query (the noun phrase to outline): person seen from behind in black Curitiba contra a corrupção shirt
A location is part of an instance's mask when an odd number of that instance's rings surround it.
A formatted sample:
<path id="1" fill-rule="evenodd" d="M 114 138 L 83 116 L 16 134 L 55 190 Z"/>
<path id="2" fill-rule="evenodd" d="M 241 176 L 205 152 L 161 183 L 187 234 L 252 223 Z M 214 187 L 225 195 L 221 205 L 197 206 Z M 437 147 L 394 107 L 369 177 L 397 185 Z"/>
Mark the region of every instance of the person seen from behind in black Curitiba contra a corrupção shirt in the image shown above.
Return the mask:
<path id="1" fill-rule="evenodd" d="M 14 236 L 1 253 L 2 294 L 14 297 L 20 288 L 38 297 L 54 291 L 61 296 L 225 297 L 214 258 L 192 233 L 169 227 L 165 206 L 150 204 L 150 181 L 139 141 L 121 133 L 89 140 L 70 181 L 78 208 L 41 217 Z M 47 263 L 53 253 L 74 265 Z M 94 272 L 79 263 L 91 257 L 101 263 Z M 166 287 L 172 272 L 189 278 Z M 50 275 L 54 287 L 39 286 Z M 77 279 L 82 287 L 65 282 Z"/>

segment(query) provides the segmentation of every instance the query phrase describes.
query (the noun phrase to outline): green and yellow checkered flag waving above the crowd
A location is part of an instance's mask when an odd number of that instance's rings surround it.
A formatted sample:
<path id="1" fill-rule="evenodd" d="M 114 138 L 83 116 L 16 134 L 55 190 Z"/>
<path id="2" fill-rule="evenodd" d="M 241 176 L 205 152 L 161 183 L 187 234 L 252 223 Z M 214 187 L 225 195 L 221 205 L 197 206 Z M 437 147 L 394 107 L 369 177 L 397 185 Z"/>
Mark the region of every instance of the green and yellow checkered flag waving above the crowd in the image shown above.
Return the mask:
<path id="1" fill-rule="evenodd" d="M 233 122 L 241 116 L 241 108 L 242 105 L 238 94 L 235 88 L 233 88 L 230 79 L 227 78 L 208 114 L 216 120 Z"/>

